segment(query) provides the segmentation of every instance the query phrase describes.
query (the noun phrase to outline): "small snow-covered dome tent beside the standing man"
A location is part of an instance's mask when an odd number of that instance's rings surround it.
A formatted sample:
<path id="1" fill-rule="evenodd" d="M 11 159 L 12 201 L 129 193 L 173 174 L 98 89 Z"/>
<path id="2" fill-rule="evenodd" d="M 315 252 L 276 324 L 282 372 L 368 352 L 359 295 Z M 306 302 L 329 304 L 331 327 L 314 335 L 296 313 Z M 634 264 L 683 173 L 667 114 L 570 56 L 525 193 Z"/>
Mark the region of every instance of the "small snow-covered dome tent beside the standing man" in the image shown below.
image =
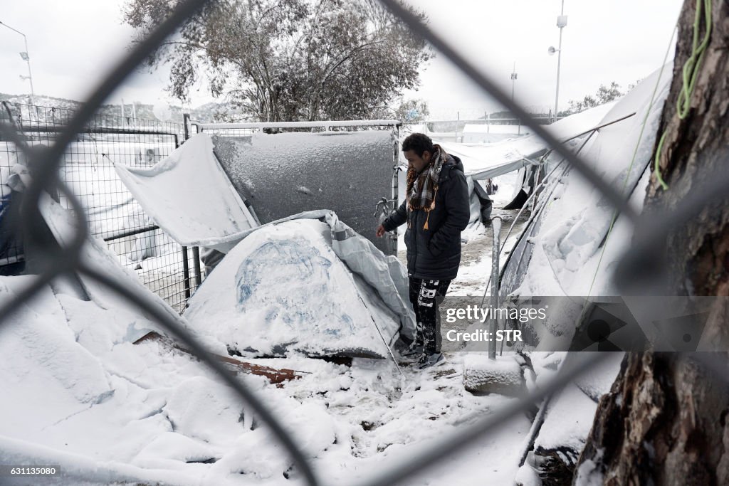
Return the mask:
<path id="1" fill-rule="evenodd" d="M 188 302 L 190 325 L 253 355 L 389 356 L 413 337 L 408 276 L 332 211 L 251 230 Z"/>

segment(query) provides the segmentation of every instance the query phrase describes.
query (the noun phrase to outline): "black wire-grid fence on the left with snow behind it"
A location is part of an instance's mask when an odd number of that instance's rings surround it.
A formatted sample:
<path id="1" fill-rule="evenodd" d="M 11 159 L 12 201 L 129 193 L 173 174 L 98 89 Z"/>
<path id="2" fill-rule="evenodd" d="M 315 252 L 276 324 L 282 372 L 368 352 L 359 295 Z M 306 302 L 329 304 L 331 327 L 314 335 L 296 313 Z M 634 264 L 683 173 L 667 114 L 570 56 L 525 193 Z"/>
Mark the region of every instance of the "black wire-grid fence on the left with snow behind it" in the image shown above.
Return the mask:
<path id="1" fill-rule="evenodd" d="M 15 125 L 30 146 L 52 144 L 74 115 L 69 109 L 49 106 L 2 105 L 0 117 Z M 58 165 L 58 178 L 79 198 L 90 235 L 106 241 L 120 262 L 178 313 L 201 281 L 197 251 L 179 246 L 149 219 L 118 178 L 114 164 L 155 165 L 182 143 L 183 131 L 179 123 L 97 113 L 76 134 Z M 6 184 L 14 165 L 26 163 L 16 144 L 0 142 L 0 184 Z M 59 201 L 70 207 L 68 197 L 59 195 Z M 2 273 L 12 273 L 24 259 L 11 232 L 7 224 L 0 227 L 0 241 L 8 247 L 0 266 L 14 264 Z"/>

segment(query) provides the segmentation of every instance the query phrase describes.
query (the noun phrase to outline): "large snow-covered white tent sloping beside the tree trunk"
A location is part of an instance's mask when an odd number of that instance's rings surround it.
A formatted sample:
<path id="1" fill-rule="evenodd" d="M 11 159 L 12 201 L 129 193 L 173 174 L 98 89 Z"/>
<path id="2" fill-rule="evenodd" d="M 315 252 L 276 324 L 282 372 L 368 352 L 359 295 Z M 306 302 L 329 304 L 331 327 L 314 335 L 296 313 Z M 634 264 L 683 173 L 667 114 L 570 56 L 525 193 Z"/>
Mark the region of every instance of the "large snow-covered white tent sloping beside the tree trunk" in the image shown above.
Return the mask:
<path id="1" fill-rule="evenodd" d="M 668 64 L 612 103 L 597 125 L 634 112 L 636 115 L 601 128 L 581 152 L 582 160 L 626 198 L 630 197 L 629 203 L 638 212 L 650 178 L 652 148 L 670 73 Z M 550 155 L 545 172 L 549 173 L 560 160 Z M 612 270 L 630 244 L 630 222 L 616 215 L 601 192 L 566 164 L 545 180 L 536 206 L 537 211 L 504 264 L 502 299 L 620 295 L 612 283 Z M 617 219 L 613 224 L 614 216 Z M 575 335 L 574 323 L 588 322 L 590 312 L 598 308 L 579 297 L 565 297 L 558 302 L 561 309 L 550 305 L 547 320 L 528 329 L 531 344 L 539 345 L 539 349 L 566 349 Z"/>

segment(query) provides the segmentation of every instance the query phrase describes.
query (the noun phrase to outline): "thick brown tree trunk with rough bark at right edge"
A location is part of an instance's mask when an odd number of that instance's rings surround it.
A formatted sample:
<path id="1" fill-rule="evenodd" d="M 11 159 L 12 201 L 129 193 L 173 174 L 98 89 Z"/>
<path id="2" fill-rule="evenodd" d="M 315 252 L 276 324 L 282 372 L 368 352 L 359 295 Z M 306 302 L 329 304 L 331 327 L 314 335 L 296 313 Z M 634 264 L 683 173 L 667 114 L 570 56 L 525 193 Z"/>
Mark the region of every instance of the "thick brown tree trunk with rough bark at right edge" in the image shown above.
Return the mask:
<path id="1" fill-rule="evenodd" d="M 712 174 L 729 171 L 729 2 L 713 0 L 712 7 L 711 40 L 698 68 L 690 111 L 680 120 L 676 103 L 681 70 L 692 52 L 696 1 L 685 0 L 682 8 L 674 79 L 659 132 L 660 137 L 666 130 L 660 168 L 668 189 L 652 177 L 644 208 L 649 214 L 676 208 L 687 195 L 701 192 Z M 702 18 L 700 40 L 704 31 Z M 672 228 L 666 258 L 668 295 L 727 296 L 726 198 L 689 224 Z M 728 342 L 728 323 L 726 299 L 717 299 L 702 342 L 707 337 Z M 721 363 L 721 376 L 690 355 L 626 355 L 612 390 L 599 403 L 574 483 L 601 478 L 607 485 L 729 484 L 727 355 L 709 356 Z"/>

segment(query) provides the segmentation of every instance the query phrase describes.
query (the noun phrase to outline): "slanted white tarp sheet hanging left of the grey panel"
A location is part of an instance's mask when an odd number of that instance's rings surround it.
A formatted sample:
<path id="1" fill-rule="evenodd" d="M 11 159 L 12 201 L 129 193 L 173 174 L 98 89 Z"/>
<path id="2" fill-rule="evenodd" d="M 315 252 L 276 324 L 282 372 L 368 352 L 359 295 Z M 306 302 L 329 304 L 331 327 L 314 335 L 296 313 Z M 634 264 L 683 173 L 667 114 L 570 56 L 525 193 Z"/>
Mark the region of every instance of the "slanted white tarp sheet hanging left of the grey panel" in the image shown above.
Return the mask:
<path id="1" fill-rule="evenodd" d="M 114 164 L 119 178 L 144 211 L 182 246 L 208 246 L 226 252 L 227 237 L 257 226 L 200 133 L 152 168 Z"/>

